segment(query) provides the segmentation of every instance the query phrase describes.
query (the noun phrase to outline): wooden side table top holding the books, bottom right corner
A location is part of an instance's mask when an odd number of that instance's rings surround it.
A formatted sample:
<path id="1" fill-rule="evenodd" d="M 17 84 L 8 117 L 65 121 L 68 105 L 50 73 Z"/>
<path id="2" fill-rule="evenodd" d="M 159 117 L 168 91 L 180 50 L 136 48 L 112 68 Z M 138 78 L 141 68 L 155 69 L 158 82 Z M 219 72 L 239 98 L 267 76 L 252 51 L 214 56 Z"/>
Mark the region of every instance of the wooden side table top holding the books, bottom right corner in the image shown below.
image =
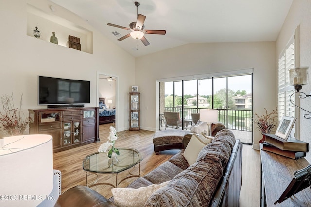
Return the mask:
<path id="1" fill-rule="evenodd" d="M 282 195 L 294 177 L 294 172 L 309 165 L 306 159 L 290 159 L 260 150 L 261 154 L 261 207 L 311 206 L 311 190 L 306 188 L 282 203 L 274 202 Z"/>

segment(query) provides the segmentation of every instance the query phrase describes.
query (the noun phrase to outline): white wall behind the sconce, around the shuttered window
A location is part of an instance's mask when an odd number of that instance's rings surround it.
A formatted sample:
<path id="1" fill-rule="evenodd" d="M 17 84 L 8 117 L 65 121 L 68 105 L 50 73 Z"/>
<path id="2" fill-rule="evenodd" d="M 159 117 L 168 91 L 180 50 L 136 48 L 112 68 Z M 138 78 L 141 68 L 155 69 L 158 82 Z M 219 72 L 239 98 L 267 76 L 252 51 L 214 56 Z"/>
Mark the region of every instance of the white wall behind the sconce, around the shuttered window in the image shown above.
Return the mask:
<path id="1" fill-rule="evenodd" d="M 309 94 L 311 92 L 311 0 L 294 0 L 291 9 L 286 17 L 284 25 L 276 41 L 276 58 L 285 48 L 285 45 L 299 25 L 300 30 L 300 66 L 309 67 L 309 84 L 302 87 L 302 92 Z M 300 106 L 307 111 L 311 111 L 311 99 L 301 99 Z M 299 110 L 299 109 L 297 109 Z M 300 110 L 300 139 L 311 144 L 310 125 L 311 119 L 305 119 Z M 311 153 L 307 153 L 306 159 L 311 162 Z"/>

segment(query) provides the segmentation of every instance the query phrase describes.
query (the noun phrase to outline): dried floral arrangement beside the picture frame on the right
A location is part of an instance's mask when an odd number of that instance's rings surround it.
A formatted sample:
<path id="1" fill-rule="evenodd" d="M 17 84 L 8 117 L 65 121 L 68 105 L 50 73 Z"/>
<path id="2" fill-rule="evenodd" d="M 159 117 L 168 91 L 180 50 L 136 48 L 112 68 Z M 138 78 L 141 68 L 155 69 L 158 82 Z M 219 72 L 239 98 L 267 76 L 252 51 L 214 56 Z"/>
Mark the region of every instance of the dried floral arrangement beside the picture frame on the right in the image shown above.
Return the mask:
<path id="1" fill-rule="evenodd" d="M 260 131 L 261 134 L 271 134 L 276 130 L 276 118 L 278 114 L 277 108 L 272 110 L 271 113 L 268 113 L 266 108 L 264 110 L 266 113 L 262 116 L 259 116 L 257 113 L 255 113 L 257 118 L 254 119 L 254 123 L 257 124 L 256 129 Z"/>

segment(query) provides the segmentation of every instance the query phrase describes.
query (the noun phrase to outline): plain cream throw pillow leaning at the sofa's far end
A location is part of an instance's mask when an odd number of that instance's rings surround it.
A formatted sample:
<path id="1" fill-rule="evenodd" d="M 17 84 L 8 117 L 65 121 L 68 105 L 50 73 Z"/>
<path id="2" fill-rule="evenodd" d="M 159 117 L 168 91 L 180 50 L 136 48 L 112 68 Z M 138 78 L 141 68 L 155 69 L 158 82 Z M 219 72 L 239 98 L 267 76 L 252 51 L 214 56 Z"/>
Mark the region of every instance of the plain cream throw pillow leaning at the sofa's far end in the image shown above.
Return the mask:
<path id="1" fill-rule="evenodd" d="M 207 144 L 204 143 L 197 135 L 193 134 L 185 151 L 184 151 L 184 157 L 187 160 L 189 165 L 192 165 L 195 163 L 199 152 L 203 147 L 205 147 Z"/>

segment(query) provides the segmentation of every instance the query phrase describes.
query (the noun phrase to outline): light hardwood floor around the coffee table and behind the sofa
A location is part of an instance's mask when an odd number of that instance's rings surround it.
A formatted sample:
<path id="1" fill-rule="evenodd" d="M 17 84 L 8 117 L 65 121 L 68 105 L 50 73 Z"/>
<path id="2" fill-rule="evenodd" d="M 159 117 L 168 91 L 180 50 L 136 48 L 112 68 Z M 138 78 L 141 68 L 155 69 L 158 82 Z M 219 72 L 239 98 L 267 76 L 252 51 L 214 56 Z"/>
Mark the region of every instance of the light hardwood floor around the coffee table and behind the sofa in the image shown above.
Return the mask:
<path id="1" fill-rule="evenodd" d="M 99 143 L 90 143 L 77 148 L 69 149 L 53 154 L 54 169 L 62 172 L 62 192 L 76 185 L 86 185 L 86 172 L 82 169 L 83 159 L 98 150 L 101 143 L 107 141 L 110 124 L 100 125 Z M 154 132 L 140 131 L 122 131 L 118 132 L 119 139 L 116 141 L 116 147 L 133 147 L 142 154 L 141 176 L 146 175 L 161 163 L 167 161 L 178 150 L 166 150 L 155 155 L 152 143 Z M 243 145 L 242 157 L 242 188 L 240 195 L 241 207 L 259 207 L 260 206 L 260 152 L 253 150 L 250 145 Z M 132 170 L 138 173 L 138 167 Z M 118 174 L 118 180 L 127 176 L 127 171 Z M 122 182 L 118 187 L 126 187 L 137 178 L 130 178 Z M 89 176 L 89 182 L 95 180 L 95 175 Z M 99 182 L 115 183 L 115 175 L 101 174 Z M 112 196 L 111 186 L 95 186 L 93 189 L 107 198 Z"/>

